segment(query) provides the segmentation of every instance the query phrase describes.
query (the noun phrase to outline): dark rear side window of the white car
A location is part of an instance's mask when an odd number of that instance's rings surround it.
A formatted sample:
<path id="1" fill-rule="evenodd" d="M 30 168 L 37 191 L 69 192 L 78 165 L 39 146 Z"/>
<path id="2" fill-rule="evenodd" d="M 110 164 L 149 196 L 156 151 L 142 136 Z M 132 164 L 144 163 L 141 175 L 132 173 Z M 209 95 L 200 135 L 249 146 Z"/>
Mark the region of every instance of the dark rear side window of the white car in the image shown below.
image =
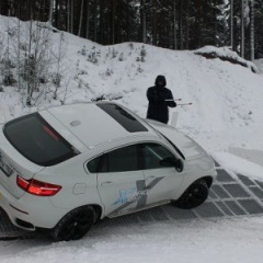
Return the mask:
<path id="1" fill-rule="evenodd" d="M 91 173 L 128 172 L 139 170 L 137 146 L 127 146 L 110 151 L 88 162 Z"/>

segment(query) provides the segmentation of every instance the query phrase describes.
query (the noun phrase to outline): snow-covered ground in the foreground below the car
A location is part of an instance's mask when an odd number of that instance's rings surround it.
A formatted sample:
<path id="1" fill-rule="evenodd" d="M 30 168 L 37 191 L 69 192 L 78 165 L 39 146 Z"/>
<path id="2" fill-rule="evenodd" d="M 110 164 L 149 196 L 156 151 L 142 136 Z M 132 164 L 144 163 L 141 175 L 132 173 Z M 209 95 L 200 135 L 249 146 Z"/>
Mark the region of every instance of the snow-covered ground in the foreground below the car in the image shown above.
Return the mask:
<path id="1" fill-rule="evenodd" d="M 80 241 L 0 243 L 1 263 L 261 263 L 263 218 L 93 229 Z"/>

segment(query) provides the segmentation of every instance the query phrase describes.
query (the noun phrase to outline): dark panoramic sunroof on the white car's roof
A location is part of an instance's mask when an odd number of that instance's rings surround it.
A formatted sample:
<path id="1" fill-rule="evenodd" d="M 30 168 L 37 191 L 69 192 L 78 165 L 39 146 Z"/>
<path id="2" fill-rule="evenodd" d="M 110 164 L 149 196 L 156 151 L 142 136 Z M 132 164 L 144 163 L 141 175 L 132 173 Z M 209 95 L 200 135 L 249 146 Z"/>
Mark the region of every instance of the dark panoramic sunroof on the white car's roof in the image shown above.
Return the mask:
<path id="1" fill-rule="evenodd" d="M 96 105 L 104 112 L 106 112 L 110 116 L 112 116 L 127 132 L 129 133 L 148 132 L 148 129 L 140 122 L 138 122 L 134 116 L 132 116 L 121 106 L 112 103 L 102 103 Z"/>

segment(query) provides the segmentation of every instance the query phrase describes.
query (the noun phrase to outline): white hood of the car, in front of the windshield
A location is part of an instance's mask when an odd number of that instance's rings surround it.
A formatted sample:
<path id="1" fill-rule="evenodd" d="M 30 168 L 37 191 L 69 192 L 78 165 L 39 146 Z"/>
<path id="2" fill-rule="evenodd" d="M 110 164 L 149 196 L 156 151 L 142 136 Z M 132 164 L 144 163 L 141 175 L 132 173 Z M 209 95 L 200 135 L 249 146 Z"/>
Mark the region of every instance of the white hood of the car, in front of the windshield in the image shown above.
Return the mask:
<path id="1" fill-rule="evenodd" d="M 186 160 L 193 160 L 208 156 L 207 152 L 197 142 L 195 142 L 185 134 L 173 128 L 172 126 L 151 119 L 146 119 L 146 122 L 156 130 L 165 136 L 169 140 L 171 140 L 183 153 Z"/>

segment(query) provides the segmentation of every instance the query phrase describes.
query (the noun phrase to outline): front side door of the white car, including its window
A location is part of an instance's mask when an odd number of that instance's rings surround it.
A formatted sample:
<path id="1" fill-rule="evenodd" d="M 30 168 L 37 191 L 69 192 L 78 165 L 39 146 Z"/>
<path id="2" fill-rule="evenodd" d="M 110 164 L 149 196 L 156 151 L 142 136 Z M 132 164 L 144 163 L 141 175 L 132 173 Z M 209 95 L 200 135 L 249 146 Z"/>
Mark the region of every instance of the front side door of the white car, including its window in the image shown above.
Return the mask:
<path id="1" fill-rule="evenodd" d="M 184 176 L 184 172 L 175 170 L 174 161 L 178 158 L 167 147 L 155 142 L 140 145 L 140 152 L 144 160 L 147 204 L 172 199 Z"/>

